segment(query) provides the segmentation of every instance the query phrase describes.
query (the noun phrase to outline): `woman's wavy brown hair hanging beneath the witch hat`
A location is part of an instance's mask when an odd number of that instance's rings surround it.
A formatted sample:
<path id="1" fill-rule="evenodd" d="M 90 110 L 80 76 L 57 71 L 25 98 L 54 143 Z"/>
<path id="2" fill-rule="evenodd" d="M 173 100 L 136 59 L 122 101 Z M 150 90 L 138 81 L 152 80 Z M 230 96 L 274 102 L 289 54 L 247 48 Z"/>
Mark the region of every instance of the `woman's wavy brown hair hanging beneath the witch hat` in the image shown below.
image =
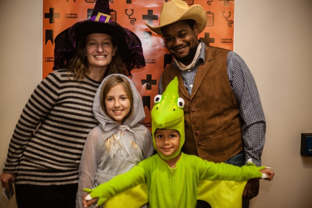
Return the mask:
<path id="1" fill-rule="evenodd" d="M 118 52 L 118 41 L 112 37 L 113 46 L 116 48 L 115 56 L 107 66 L 105 77 L 110 74 L 124 74 L 127 75 L 126 65 L 123 63 Z M 73 58 L 69 62 L 69 71 L 74 75 L 75 80 L 82 80 L 90 73 L 88 69 L 88 60 L 85 56 L 86 36 L 82 37 L 76 45 L 76 50 Z"/>

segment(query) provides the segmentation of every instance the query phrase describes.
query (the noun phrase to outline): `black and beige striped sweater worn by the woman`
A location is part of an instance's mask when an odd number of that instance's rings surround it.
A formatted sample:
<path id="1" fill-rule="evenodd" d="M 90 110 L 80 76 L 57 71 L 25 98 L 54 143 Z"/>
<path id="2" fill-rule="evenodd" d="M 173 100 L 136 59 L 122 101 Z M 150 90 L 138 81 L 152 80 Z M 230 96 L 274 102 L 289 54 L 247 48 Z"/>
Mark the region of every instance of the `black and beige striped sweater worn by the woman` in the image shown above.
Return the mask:
<path id="1" fill-rule="evenodd" d="M 17 172 L 16 184 L 78 181 L 85 139 L 98 125 L 92 105 L 100 82 L 89 78 L 79 82 L 69 75 L 68 70 L 48 75 L 22 111 L 3 168 L 3 172 Z"/>

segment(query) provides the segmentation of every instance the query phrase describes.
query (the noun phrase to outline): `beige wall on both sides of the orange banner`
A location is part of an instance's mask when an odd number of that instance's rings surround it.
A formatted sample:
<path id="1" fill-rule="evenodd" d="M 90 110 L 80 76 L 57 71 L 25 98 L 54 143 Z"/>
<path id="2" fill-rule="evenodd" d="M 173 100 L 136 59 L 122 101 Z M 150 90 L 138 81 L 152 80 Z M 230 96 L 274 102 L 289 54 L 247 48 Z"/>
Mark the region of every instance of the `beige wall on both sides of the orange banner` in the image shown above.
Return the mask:
<path id="1" fill-rule="evenodd" d="M 203 0 L 203 2 L 205 2 Z M 236 0 L 235 51 L 255 77 L 267 121 L 261 181 L 251 207 L 311 207 L 312 157 L 300 134 L 312 132 L 312 2 Z M 17 119 L 41 80 L 41 1 L 0 1 L 0 169 Z M 216 40 L 217 41 L 217 40 Z M 0 196 L 0 207 L 15 208 Z"/>

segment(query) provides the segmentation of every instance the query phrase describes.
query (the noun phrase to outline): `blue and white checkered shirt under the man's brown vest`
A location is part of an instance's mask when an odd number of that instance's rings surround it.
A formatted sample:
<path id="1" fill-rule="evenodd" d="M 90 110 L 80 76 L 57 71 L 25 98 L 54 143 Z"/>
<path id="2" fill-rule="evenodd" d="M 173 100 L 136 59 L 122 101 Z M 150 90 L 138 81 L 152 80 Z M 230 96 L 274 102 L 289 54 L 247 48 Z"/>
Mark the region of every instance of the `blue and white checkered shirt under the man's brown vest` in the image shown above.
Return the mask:
<path id="1" fill-rule="evenodd" d="M 205 44 L 194 67 L 182 71 L 183 83 L 189 95 L 192 94 L 194 78 L 198 65 L 205 61 Z M 173 62 L 173 66 L 178 65 Z M 261 106 L 261 101 L 256 86 L 256 82 L 246 65 L 245 61 L 234 51 L 229 51 L 227 55 L 227 74 L 231 88 L 239 105 L 239 114 L 242 118 L 243 125 L 241 129 L 242 137 L 245 143 L 246 162 L 252 159 L 257 166 L 261 166 L 261 155 L 265 143 L 266 121 Z M 158 94 L 162 94 L 161 77 L 159 79 Z"/>

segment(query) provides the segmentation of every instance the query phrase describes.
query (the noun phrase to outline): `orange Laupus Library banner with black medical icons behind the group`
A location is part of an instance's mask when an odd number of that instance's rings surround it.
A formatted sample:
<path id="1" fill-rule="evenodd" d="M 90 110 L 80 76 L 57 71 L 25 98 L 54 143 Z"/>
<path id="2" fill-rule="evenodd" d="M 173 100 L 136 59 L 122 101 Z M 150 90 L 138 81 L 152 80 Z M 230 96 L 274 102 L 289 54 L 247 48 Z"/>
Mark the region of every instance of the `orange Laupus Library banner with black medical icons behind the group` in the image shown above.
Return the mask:
<path id="1" fill-rule="evenodd" d="M 129 28 L 141 40 L 146 66 L 134 69 L 132 82 L 142 96 L 146 118 L 143 124 L 151 129 L 150 111 L 158 94 L 158 80 L 173 56 L 166 42 L 145 25 L 158 26 L 160 9 L 168 0 L 110 0 L 113 21 Z M 182 0 L 181 0 L 182 1 Z M 234 0 L 184 0 L 189 6 L 200 4 L 207 24 L 198 38 L 210 46 L 233 50 Z M 54 38 L 75 22 L 89 19 L 95 0 L 42 0 L 42 78 L 52 72 Z"/>

